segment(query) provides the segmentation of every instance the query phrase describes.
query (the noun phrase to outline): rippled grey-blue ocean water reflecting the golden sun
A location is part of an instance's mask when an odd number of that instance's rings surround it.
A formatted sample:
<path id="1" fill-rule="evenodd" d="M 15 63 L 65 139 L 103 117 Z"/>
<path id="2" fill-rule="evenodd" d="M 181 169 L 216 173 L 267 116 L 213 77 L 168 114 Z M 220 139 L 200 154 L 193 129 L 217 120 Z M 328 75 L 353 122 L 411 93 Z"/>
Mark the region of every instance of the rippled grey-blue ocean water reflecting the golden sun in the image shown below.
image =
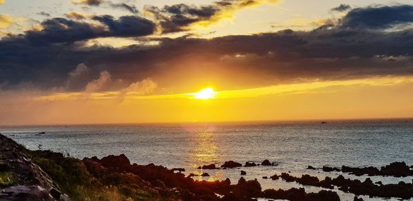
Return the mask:
<path id="1" fill-rule="evenodd" d="M 45 134 L 36 135 L 44 131 Z M 67 125 L 35 127 L 0 127 L 0 133 L 25 145 L 28 149 L 50 149 L 76 158 L 110 154 L 125 154 L 140 165 L 154 163 L 169 168 L 183 167 L 184 173 L 207 172 L 209 178 L 236 183 L 240 171 L 247 180 L 257 178 L 263 189 L 304 187 L 306 191 L 321 188 L 295 182 L 264 180 L 290 171 L 290 175 L 308 173 L 324 179 L 335 178 L 339 172 L 325 173 L 306 167 L 381 167 L 395 161 L 413 165 L 413 120 L 343 120 L 266 123 L 187 123 L 145 125 Z M 240 169 L 200 170 L 196 167 L 226 160 L 244 164 L 268 159 L 277 163 L 271 167 L 240 167 Z M 368 176 L 346 178 L 364 180 Z M 413 177 L 370 177 L 373 182 L 412 182 Z M 341 200 L 352 200 L 354 195 L 335 189 Z M 365 200 L 397 200 L 368 198 Z M 412 199 L 413 200 L 413 199 Z"/>

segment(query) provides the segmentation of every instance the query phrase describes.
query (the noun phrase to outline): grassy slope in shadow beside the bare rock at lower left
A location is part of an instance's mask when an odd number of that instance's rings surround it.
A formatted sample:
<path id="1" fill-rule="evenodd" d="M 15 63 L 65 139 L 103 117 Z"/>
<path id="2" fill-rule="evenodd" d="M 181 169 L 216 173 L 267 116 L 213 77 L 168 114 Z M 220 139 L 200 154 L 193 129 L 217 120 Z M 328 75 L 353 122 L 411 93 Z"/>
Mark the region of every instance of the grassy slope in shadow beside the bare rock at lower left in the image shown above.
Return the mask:
<path id="1" fill-rule="evenodd" d="M 25 152 L 71 200 L 165 200 L 149 187 L 136 182 L 137 176 L 88 170 L 81 160 L 52 151 L 25 149 Z"/>

